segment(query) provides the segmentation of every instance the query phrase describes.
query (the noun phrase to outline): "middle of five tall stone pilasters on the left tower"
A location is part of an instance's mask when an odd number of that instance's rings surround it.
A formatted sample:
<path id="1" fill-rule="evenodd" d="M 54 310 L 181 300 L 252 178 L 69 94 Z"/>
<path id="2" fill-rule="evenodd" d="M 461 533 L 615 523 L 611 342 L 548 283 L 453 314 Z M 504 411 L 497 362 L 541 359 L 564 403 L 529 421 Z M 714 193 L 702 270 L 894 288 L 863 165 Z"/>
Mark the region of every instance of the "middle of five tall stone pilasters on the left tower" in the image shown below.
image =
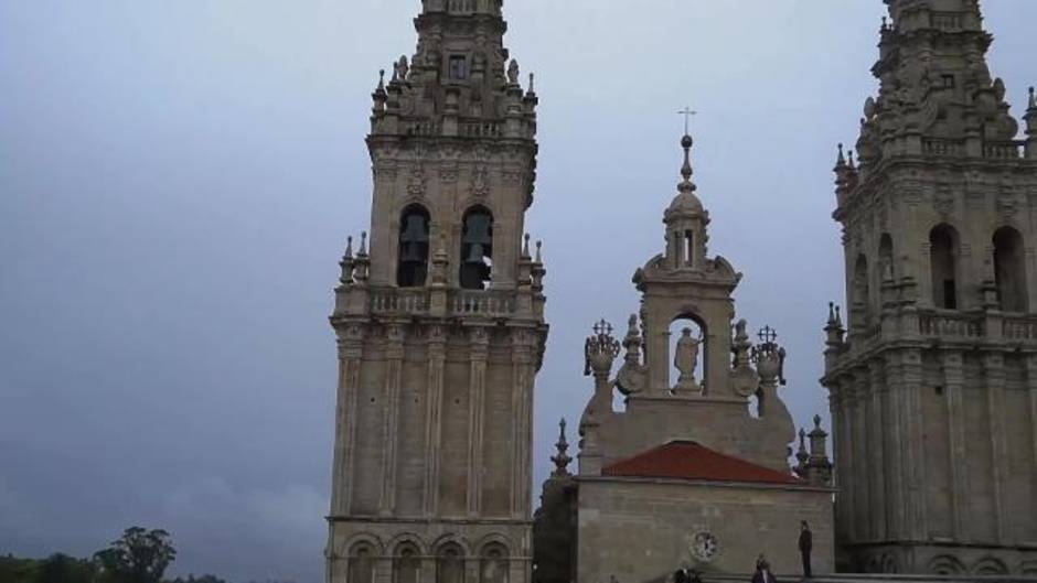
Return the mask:
<path id="1" fill-rule="evenodd" d="M 425 423 L 425 515 L 439 514 L 439 466 L 442 442 L 442 384 L 447 361 L 446 331 L 428 328 L 428 398 Z M 431 581 L 431 580 L 430 580 Z"/>

